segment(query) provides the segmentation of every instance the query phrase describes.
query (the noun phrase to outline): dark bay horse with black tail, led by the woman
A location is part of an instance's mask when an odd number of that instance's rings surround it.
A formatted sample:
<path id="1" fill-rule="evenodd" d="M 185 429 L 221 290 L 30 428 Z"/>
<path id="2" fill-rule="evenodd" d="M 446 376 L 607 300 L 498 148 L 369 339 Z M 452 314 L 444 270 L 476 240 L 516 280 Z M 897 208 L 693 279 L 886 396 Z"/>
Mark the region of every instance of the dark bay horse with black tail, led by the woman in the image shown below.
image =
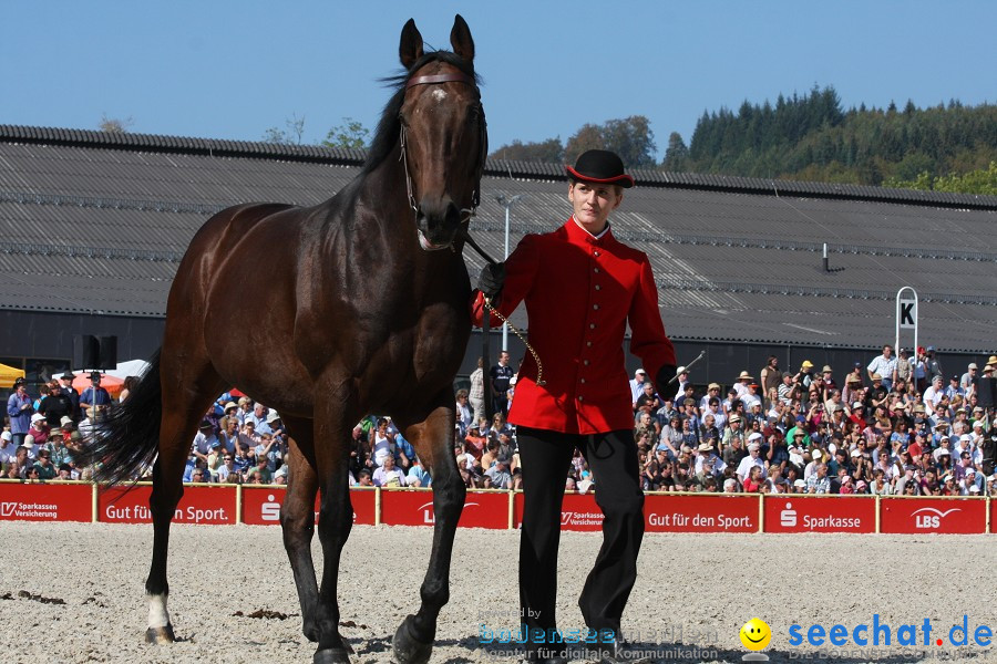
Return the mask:
<path id="1" fill-rule="evenodd" d="M 290 434 L 280 522 L 316 662 L 349 662 L 337 573 L 352 526 L 351 429 L 366 414 L 391 414 L 414 445 L 433 477 L 435 526 L 421 606 L 393 646 L 403 664 L 429 658 L 464 504 L 452 446 L 453 378 L 471 333 L 461 225 L 477 205 L 487 152 L 474 42 L 460 15 L 450 41 L 453 52 L 423 52 L 414 21 L 404 25 L 407 72 L 392 80 L 361 175 L 333 198 L 241 205 L 201 228 L 169 291 L 152 367 L 107 436 L 88 443 L 84 460 L 112 483 L 155 458 L 151 642 L 174 640 L 167 540 L 192 440 L 215 397 L 237 385 L 275 407 Z M 321 588 L 310 550 L 317 491 Z"/>

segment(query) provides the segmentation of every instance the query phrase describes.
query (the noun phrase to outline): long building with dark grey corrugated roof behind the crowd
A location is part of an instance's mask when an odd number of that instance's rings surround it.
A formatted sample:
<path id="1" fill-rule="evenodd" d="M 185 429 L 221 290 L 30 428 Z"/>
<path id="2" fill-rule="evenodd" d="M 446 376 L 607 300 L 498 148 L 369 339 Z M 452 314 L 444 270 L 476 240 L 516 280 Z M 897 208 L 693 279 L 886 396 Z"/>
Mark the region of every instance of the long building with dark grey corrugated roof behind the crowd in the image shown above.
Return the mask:
<path id="1" fill-rule="evenodd" d="M 0 362 L 37 380 L 70 364 L 75 334 L 116 334 L 120 357 L 148 355 L 177 263 L 212 214 L 254 200 L 318 203 L 364 156 L 0 125 Z M 997 350 L 997 197 L 635 176 L 613 231 L 650 257 L 680 362 L 709 351 L 696 382 L 730 383 L 770 353 L 783 366 L 805 357 L 843 375 L 893 342 L 902 287 L 919 295 L 918 343 L 950 357 L 946 370 Z M 496 195 L 525 194 L 511 211 L 513 247 L 571 211 L 556 165 L 490 160 L 482 189 L 471 228 L 495 257 L 505 229 Z M 464 253 L 473 279 L 482 259 Z M 525 326 L 522 311 L 513 322 Z M 905 332 L 902 345 L 912 343 Z M 467 371 L 477 347 L 473 338 Z"/>

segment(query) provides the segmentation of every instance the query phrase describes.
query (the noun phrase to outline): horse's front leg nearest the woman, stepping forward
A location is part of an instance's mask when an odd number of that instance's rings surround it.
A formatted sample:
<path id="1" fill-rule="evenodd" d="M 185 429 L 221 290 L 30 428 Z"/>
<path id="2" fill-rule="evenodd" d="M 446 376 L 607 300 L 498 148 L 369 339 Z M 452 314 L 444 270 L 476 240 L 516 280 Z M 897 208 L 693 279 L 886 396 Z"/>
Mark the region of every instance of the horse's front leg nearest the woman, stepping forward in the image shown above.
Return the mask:
<path id="1" fill-rule="evenodd" d="M 409 615 L 394 633 L 392 646 L 400 664 L 422 664 L 429 661 L 436 635 L 440 609 L 450 600 L 450 560 L 453 537 L 466 490 L 453 456 L 453 396 L 442 395 L 425 422 L 409 426 L 405 436 L 415 447 L 419 458 L 432 476 L 433 487 L 433 550 L 429 569 L 422 581 L 422 604 L 415 615 Z"/>

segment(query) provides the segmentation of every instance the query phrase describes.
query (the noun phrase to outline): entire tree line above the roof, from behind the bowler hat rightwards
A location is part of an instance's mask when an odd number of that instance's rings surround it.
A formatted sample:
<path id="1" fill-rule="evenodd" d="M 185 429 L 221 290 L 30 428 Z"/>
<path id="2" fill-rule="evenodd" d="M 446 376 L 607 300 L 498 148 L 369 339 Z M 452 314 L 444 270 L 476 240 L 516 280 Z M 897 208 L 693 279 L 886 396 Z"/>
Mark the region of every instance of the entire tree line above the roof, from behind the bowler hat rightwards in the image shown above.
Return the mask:
<path id="1" fill-rule="evenodd" d="M 640 115 L 585 125 L 564 144 L 514 141 L 491 156 L 571 163 L 594 147 L 618 152 L 629 167 L 997 195 L 997 105 L 844 110 L 831 86 L 703 112 L 688 145 L 670 134 L 660 164 Z"/>

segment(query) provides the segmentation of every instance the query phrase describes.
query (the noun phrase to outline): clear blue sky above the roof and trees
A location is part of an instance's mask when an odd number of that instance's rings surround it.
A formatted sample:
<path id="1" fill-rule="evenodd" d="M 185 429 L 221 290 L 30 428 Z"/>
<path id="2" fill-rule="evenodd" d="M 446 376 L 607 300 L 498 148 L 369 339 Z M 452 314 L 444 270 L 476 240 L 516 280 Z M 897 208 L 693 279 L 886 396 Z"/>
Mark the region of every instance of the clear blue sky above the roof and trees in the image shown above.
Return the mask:
<path id="1" fill-rule="evenodd" d="M 833 85 L 844 105 L 997 102 L 997 2 L 366 2 L 7 0 L 0 124 L 256 141 L 305 118 L 372 128 L 411 17 L 474 35 L 493 148 L 584 123 L 651 121 L 688 143 L 703 110 Z"/>

